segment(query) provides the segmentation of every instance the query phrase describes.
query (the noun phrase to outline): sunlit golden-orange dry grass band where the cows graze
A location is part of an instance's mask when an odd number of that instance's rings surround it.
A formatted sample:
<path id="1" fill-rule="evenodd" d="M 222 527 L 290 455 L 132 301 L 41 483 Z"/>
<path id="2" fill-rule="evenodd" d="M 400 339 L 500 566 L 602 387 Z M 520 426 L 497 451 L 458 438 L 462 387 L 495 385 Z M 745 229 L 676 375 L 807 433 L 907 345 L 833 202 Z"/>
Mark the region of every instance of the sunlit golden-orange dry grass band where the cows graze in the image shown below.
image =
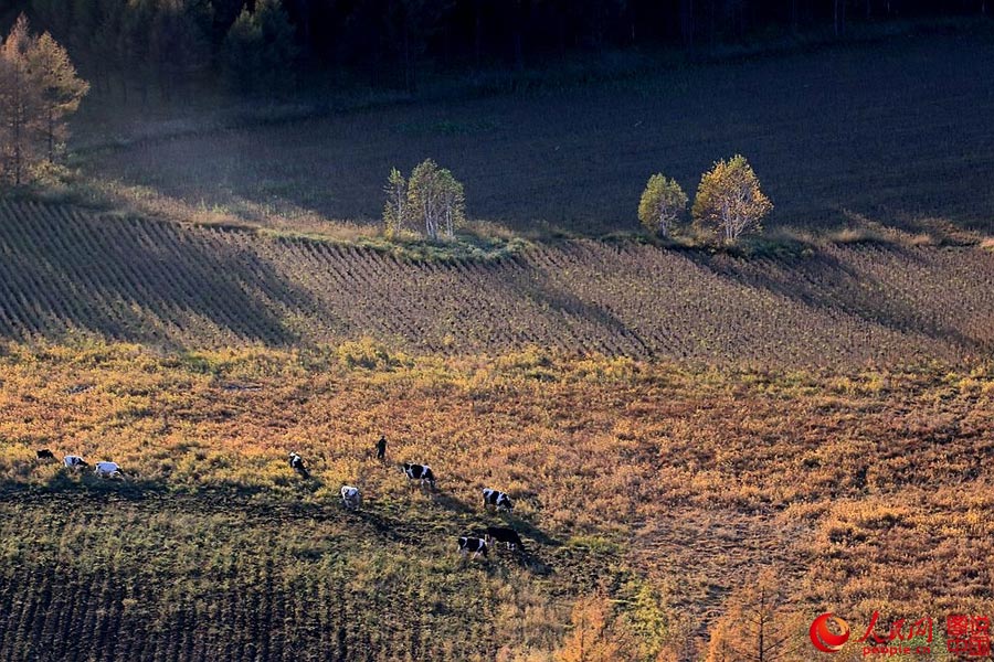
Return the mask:
<path id="1" fill-rule="evenodd" d="M 497 361 L 398 356 L 373 343 L 183 356 L 7 345 L 0 367 L 0 476 L 4 508 L 18 516 L 84 494 L 96 512 L 115 495 L 137 500 L 128 506 L 142 511 L 136 521 L 173 500 L 224 516 L 254 513 L 253 526 L 300 509 L 335 526 L 340 549 L 353 534 L 362 545 L 379 535 L 372 520 L 352 530 L 335 514 L 348 482 L 405 554 L 450 558 L 455 535 L 493 521 L 479 490 L 510 492 L 510 521 L 553 572 L 546 584 L 531 565 L 515 581 L 535 609 L 547 590 L 562 601 L 525 617 L 537 620 L 519 631 L 511 623 L 522 608 L 511 607 L 519 599 L 505 595 L 505 579 L 487 589 L 493 609 L 511 609 L 488 630 L 494 654 L 510 632 L 533 642 L 503 659 L 550 654 L 564 632 L 562 609 L 595 587 L 624 600 L 624 622 L 631 577 L 663 596 L 666 645 L 699 644 L 701 654 L 698 638 L 728 609 L 730 591 L 769 567 L 789 578 L 784 604 L 807 618 L 994 608 L 983 562 L 994 557 L 985 461 L 994 452 L 994 375 L 982 367 L 688 372 L 537 350 Z M 398 471 L 369 458 L 380 433 L 392 461 L 432 465 L 438 494 L 411 493 Z M 40 447 L 114 459 L 134 478 L 68 477 L 34 461 Z M 308 459 L 314 482 L 288 469 L 289 450 Z M 408 536 L 419 546 L 403 543 Z M 445 568 L 411 562 L 394 572 L 398 580 L 462 572 L 438 563 Z M 379 572 L 349 590 L 364 595 Z M 450 590 L 472 580 L 454 578 Z"/>

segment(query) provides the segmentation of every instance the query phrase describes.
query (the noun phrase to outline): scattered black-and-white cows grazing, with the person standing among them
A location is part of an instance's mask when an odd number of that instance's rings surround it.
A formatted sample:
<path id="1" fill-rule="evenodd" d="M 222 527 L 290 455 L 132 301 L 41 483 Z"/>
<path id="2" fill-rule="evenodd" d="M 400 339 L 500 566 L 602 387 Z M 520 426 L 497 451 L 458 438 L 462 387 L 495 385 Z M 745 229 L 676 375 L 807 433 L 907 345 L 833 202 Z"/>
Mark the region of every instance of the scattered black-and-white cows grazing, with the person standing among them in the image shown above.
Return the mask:
<path id="1" fill-rule="evenodd" d="M 381 442 L 383 440 L 381 438 Z M 36 456 L 39 460 L 55 459 L 55 455 L 49 449 L 41 449 L 36 451 Z M 379 449 L 377 457 L 383 457 L 382 448 Z M 76 455 L 65 456 L 62 459 L 62 463 L 66 469 L 76 472 L 89 468 L 89 462 Z M 289 466 L 294 471 L 299 473 L 302 478 L 310 478 L 310 472 L 304 465 L 304 458 L 302 458 L 298 453 L 289 453 Z M 404 476 L 408 477 L 409 481 L 419 481 L 422 488 L 429 487 L 432 490 L 435 489 L 435 474 L 432 471 L 432 468 L 427 465 L 414 465 L 411 462 L 404 462 L 400 467 L 404 472 Z M 120 469 L 120 466 L 117 462 L 110 461 L 96 462 L 94 465 L 94 473 L 99 478 L 120 480 L 124 480 L 126 478 L 124 471 L 121 471 Z M 357 511 L 362 506 L 362 493 L 359 491 L 359 488 L 355 485 L 342 485 L 340 494 L 341 503 L 346 510 Z M 514 502 L 505 492 L 487 488 L 483 491 L 483 498 L 485 509 L 493 506 L 497 511 L 505 510 L 510 512 L 515 510 Z M 507 526 L 488 526 L 486 533 L 484 534 L 484 537 L 459 536 L 458 551 L 463 556 L 472 553 L 473 558 L 476 558 L 480 555 L 487 557 L 489 547 L 495 542 L 504 543 L 508 549 L 521 552 L 525 551 L 525 545 L 521 543 L 521 537 L 518 535 L 518 532 Z"/>

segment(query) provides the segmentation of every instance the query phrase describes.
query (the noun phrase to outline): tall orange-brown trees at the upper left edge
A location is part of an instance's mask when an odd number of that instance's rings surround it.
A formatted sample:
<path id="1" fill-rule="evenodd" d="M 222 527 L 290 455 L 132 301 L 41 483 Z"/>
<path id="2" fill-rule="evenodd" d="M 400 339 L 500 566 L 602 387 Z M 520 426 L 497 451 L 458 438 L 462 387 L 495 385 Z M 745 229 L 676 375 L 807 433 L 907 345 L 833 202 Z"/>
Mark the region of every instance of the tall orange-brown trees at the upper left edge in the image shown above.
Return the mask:
<path id="1" fill-rule="evenodd" d="M 20 185 L 55 162 L 88 89 L 65 49 L 31 34 L 22 14 L 0 45 L 0 182 Z"/>

